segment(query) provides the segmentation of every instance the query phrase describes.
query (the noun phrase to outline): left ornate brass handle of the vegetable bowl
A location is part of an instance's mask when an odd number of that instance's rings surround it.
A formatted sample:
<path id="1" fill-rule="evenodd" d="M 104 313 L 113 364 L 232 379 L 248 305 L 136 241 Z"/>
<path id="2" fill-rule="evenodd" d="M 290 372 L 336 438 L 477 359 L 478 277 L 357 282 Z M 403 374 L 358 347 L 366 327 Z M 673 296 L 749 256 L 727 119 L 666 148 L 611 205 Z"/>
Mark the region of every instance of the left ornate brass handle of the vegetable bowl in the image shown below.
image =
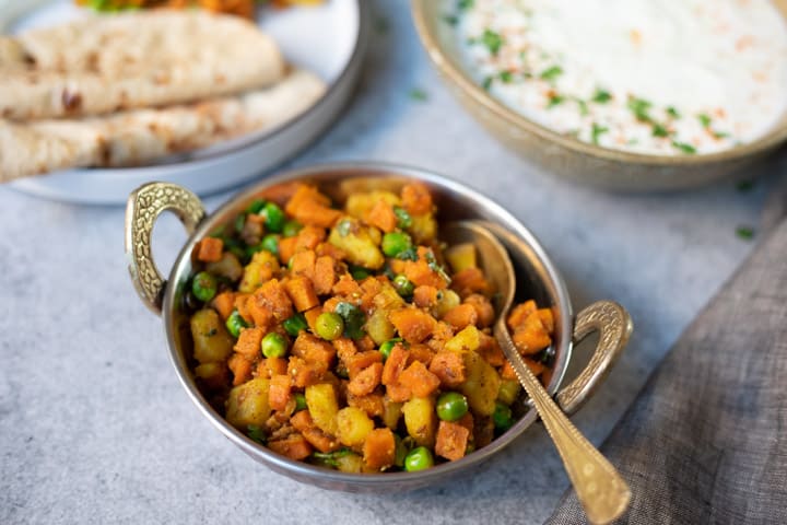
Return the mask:
<path id="1" fill-rule="evenodd" d="M 126 257 L 142 302 L 161 314 L 166 279 L 153 261 L 151 236 L 158 215 L 172 210 L 191 234 L 204 219 L 202 202 L 188 189 L 168 183 L 149 183 L 134 190 L 126 208 Z"/>

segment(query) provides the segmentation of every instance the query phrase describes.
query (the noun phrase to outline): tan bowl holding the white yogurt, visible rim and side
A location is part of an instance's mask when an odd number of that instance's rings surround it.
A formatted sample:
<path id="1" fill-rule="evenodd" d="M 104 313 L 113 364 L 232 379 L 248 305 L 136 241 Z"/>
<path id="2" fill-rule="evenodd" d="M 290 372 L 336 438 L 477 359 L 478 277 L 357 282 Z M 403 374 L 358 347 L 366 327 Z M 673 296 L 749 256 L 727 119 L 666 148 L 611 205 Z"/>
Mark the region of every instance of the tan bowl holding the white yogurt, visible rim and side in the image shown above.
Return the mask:
<path id="1" fill-rule="evenodd" d="M 648 155 L 561 135 L 524 117 L 472 80 L 451 45 L 450 27 L 444 21 L 446 2 L 411 3 L 421 42 L 462 106 L 506 147 L 573 182 L 624 191 L 688 189 L 730 177 L 787 141 L 787 114 L 760 139 L 710 154 Z M 787 19 L 787 0 L 774 4 Z"/>

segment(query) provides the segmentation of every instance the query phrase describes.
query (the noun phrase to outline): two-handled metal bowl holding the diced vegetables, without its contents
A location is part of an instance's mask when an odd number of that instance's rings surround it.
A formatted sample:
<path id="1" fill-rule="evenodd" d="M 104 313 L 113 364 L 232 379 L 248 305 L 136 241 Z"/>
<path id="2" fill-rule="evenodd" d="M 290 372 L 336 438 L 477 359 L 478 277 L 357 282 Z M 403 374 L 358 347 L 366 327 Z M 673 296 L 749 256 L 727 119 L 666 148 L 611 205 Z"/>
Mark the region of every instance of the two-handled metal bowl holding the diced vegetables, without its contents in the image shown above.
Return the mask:
<path id="1" fill-rule="evenodd" d="M 334 202 L 343 202 L 351 191 L 376 188 L 398 189 L 408 180 L 425 183 L 433 191 L 438 221 L 477 219 L 491 223 L 493 231 L 508 248 L 517 271 L 521 299 L 532 298 L 549 305 L 555 316 L 553 374 L 548 390 L 561 407 L 573 413 L 594 393 L 611 364 L 625 347 L 631 332 L 627 313 L 618 304 L 600 301 L 573 315 L 571 300 L 554 264 L 536 237 L 510 213 L 475 190 L 455 180 L 423 170 L 383 164 L 331 164 L 295 170 L 266 179 L 254 188 L 232 198 L 210 217 L 199 199 L 189 190 L 168 183 L 151 183 L 129 197 L 126 214 L 126 254 L 131 279 L 142 301 L 162 315 L 175 372 L 191 400 L 202 415 L 230 441 L 254 459 L 277 472 L 326 489 L 346 491 L 409 490 L 450 479 L 466 471 L 508 445 L 537 419 L 526 398 L 519 400 L 519 421 L 491 444 L 457 462 L 449 462 L 419 472 L 345 474 L 294 462 L 251 441 L 230 425 L 198 389 L 192 375 L 191 337 L 188 316 L 180 310 L 183 292 L 191 273 L 195 244 L 215 228 L 228 223 L 244 210 L 257 194 L 293 180 L 309 182 L 328 194 Z M 165 280 L 156 269 L 151 254 L 151 235 L 162 211 L 174 211 L 191 234 L 183 246 Z M 567 386 L 562 386 L 572 348 L 592 331 L 599 342 L 587 368 Z"/>

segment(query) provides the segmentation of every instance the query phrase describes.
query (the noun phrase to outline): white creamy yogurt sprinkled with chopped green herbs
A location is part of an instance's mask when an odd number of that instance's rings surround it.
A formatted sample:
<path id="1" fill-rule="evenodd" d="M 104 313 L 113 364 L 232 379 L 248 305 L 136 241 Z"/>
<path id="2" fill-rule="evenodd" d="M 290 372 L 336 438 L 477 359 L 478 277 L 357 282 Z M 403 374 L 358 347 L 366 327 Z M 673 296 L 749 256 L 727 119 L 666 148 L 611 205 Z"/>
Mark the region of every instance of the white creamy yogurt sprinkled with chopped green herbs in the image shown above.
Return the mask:
<path id="1" fill-rule="evenodd" d="M 446 16 L 468 70 L 535 122 L 654 155 L 714 153 L 787 110 L 787 24 L 768 0 L 474 0 Z"/>

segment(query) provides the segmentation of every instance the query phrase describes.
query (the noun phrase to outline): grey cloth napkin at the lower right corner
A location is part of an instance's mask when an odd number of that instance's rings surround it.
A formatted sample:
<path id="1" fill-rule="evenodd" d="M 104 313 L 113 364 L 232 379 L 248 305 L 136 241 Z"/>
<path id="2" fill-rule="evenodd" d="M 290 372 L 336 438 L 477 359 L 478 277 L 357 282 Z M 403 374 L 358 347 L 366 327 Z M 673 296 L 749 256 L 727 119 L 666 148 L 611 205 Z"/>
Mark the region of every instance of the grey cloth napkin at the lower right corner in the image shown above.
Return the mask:
<path id="1" fill-rule="evenodd" d="M 773 215 L 601 447 L 632 489 L 618 523 L 787 524 L 787 220 Z M 573 491 L 548 521 L 585 522 Z"/>

